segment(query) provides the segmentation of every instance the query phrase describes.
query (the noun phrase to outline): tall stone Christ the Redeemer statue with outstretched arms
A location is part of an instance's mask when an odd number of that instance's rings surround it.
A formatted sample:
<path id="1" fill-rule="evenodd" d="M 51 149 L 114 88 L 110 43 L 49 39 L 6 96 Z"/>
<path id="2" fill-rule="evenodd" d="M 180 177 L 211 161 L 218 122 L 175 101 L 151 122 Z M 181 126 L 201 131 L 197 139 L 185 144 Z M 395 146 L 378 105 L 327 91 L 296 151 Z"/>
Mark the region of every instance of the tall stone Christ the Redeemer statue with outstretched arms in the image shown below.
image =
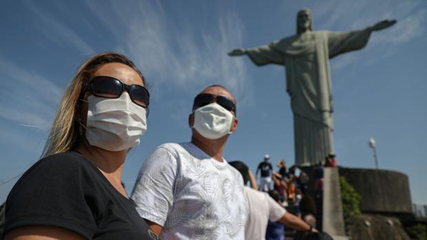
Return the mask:
<path id="1" fill-rule="evenodd" d="M 314 165 L 333 154 L 332 90 L 329 58 L 362 49 L 371 32 L 396 21 L 381 21 L 351 32 L 313 31 L 311 10 L 297 15 L 297 34 L 268 45 L 235 49 L 230 56 L 247 54 L 258 66 L 286 66 L 287 92 L 293 111 L 295 164 Z"/>

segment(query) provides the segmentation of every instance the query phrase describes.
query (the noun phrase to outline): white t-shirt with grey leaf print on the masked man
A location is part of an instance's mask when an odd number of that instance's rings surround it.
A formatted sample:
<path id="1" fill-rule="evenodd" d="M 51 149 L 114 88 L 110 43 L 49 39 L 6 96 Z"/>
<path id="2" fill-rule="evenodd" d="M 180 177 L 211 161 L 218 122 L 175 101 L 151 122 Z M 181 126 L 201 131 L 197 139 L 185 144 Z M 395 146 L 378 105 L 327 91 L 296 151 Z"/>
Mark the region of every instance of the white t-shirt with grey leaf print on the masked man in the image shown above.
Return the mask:
<path id="1" fill-rule="evenodd" d="M 145 160 L 131 198 L 160 239 L 244 239 L 242 175 L 191 142 L 163 144 Z"/>

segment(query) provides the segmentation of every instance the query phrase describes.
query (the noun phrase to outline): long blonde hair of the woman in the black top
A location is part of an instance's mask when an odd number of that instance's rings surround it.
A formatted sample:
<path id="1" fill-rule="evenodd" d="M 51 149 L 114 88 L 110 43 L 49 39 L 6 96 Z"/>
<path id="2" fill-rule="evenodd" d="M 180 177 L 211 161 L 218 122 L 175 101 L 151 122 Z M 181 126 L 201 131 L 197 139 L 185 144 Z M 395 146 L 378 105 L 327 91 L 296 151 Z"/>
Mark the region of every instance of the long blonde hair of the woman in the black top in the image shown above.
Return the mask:
<path id="1" fill-rule="evenodd" d="M 79 123 L 76 121 L 79 111 L 79 98 L 85 92 L 87 83 L 92 79 L 96 70 L 107 63 L 123 63 L 132 67 L 143 80 L 143 84 L 147 86 L 143 74 L 129 58 L 122 54 L 105 52 L 89 58 L 79 67 L 76 76 L 65 89 L 41 157 L 69 151 L 81 142 Z"/>

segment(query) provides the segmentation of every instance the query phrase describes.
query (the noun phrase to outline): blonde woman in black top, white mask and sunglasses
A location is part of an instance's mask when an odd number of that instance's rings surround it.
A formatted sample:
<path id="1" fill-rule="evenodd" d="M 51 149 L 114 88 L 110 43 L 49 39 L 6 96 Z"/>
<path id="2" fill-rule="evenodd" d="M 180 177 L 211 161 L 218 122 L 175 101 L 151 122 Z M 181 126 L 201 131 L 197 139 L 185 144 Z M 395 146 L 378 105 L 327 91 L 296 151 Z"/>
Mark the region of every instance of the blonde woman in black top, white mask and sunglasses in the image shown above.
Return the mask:
<path id="1" fill-rule="evenodd" d="M 147 130 L 149 93 L 134 63 L 98 54 L 65 89 L 43 151 L 12 188 L 5 239 L 157 239 L 121 184 Z"/>

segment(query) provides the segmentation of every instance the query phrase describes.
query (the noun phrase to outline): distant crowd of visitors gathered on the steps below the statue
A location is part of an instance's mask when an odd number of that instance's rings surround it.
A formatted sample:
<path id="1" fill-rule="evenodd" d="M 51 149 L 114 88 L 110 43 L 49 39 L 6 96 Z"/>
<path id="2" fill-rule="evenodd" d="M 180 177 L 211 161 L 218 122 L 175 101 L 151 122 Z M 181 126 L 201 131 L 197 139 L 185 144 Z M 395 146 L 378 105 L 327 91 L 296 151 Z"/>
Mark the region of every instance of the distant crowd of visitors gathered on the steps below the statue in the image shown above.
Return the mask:
<path id="1" fill-rule="evenodd" d="M 256 169 L 256 177 L 260 182 L 258 190 L 269 193 L 278 204 L 290 209 L 296 216 L 315 228 L 316 219 L 319 218 L 322 210 L 324 167 L 337 166 L 335 154 L 330 153 L 325 157 L 324 162 L 318 162 L 312 168 L 305 168 L 305 170 L 295 165 L 288 168 L 284 160 L 278 160 L 276 166 L 278 171 L 275 171 L 270 163 L 270 155 L 264 155 L 264 160 Z M 313 195 L 307 194 L 309 183 L 313 184 Z M 277 236 L 283 235 L 283 228 L 280 222 L 269 221 L 266 239 L 281 239 Z M 300 232 L 296 239 L 302 239 Z"/>

